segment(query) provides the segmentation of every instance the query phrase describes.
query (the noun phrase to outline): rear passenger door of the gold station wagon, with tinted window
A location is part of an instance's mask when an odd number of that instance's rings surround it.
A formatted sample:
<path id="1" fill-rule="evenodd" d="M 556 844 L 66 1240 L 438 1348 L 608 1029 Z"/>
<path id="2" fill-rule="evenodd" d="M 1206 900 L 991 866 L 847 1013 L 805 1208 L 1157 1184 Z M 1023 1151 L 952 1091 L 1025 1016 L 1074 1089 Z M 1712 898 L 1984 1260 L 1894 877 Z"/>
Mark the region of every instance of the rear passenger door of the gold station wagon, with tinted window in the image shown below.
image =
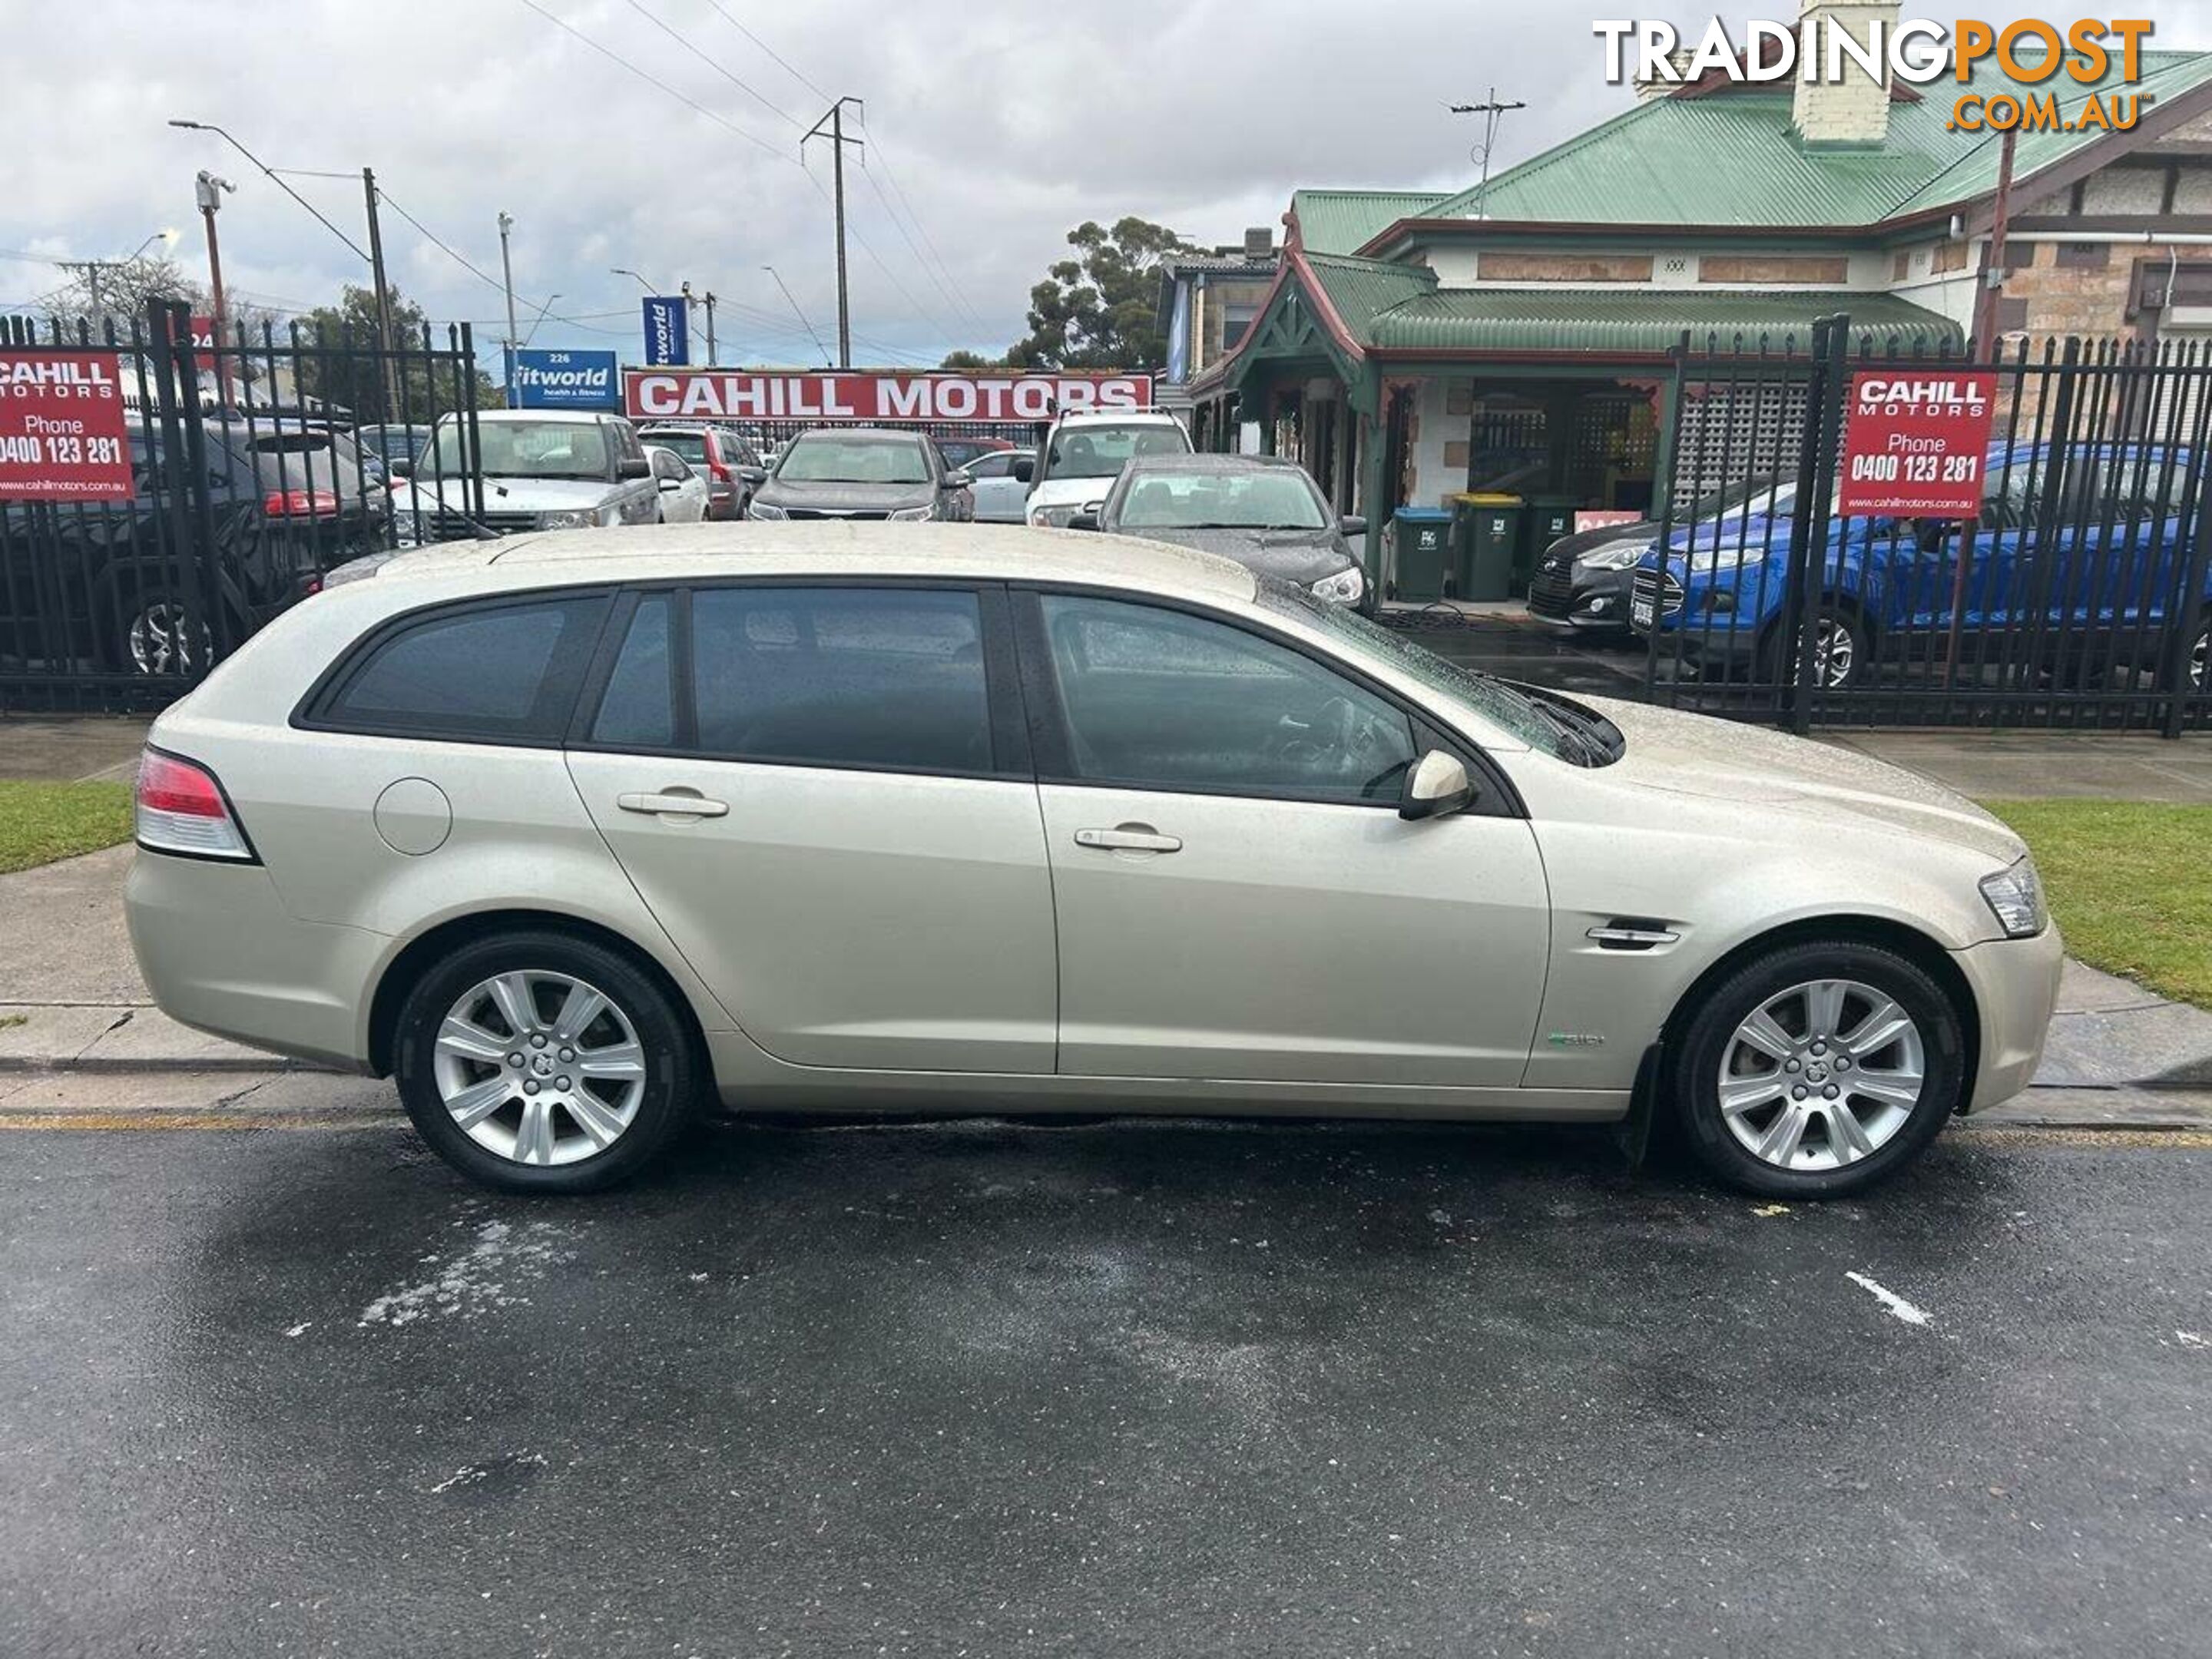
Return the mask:
<path id="1" fill-rule="evenodd" d="M 779 1060 L 1053 1068 L 1037 787 L 1011 653 L 987 648 L 1002 608 L 971 586 L 637 599 L 568 770 L 677 949 Z"/>

